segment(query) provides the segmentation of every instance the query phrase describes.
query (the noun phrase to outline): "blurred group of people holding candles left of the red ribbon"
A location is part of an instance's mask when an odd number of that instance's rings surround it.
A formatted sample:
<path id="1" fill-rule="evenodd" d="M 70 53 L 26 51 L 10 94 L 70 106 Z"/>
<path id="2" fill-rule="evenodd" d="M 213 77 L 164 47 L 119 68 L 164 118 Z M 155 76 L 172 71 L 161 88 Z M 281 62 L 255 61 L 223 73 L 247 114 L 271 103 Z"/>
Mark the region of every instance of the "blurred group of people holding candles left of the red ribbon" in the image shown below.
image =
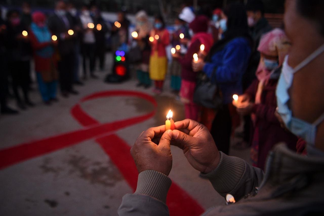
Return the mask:
<path id="1" fill-rule="evenodd" d="M 11 90 L 19 109 L 35 105 L 29 97 L 32 60 L 46 105 L 58 101 L 58 87 L 63 97 L 78 94 L 74 86 L 84 85 L 79 77 L 81 59 L 83 80 L 89 75 L 98 78 L 94 73 L 96 59 L 104 70 L 105 34 L 109 29 L 95 5 L 84 5 L 78 11 L 72 3 L 57 1 L 54 12 L 48 15 L 31 13 L 29 4 L 23 3 L 21 10 L 9 9 L 0 25 L 2 114 L 18 113 L 7 105 Z"/>

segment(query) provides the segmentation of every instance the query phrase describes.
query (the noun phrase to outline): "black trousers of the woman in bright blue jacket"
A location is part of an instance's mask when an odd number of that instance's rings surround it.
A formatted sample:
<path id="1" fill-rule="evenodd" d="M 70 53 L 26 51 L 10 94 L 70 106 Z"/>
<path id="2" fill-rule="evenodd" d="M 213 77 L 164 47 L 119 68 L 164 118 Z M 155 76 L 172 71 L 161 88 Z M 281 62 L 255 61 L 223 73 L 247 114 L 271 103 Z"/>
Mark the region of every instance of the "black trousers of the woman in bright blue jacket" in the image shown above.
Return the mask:
<path id="1" fill-rule="evenodd" d="M 218 109 L 210 133 L 212 134 L 217 149 L 228 155 L 232 131 L 232 118 L 228 104 Z"/>

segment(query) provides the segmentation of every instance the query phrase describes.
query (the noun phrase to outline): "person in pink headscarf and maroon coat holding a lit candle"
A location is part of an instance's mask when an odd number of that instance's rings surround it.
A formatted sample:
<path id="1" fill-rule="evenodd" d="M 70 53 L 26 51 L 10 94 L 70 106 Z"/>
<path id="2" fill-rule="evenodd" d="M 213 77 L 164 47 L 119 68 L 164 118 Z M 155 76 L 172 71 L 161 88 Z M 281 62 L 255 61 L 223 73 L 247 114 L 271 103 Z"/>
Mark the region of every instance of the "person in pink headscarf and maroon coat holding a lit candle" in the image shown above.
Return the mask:
<path id="1" fill-rule="evenodd" d="M 275 89 L 289 47 L 289 40 L 281 29 L 262 36 L 258 47 L 261 59 L 257 79 L 245 94 L 239 95 L 237 102 L 233 101 L 239 114 L 252 115 L 254 131 L 250 158 L 253 165 L 261 169 L 264 169 L 266 157 L 275 144 L 285 142 L 289 149 L 296 151 L 297 137 L 283 129 L 275 117 Z"/>

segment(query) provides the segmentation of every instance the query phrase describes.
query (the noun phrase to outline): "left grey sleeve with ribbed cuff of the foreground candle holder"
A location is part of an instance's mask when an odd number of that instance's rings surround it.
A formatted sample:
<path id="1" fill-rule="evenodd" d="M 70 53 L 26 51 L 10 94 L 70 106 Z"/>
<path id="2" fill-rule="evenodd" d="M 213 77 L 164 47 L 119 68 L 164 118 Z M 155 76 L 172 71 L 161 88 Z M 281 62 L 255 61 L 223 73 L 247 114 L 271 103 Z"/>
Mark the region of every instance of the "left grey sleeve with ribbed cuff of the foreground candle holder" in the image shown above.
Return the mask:
<path id="1" fill-rule="evenodd" d="M 128 215 L 169 215 L 165 204 L 171 179 L 160 172 L 145 170 L 138 175 L 137 188 L 134 194 L 122 198 L 118 214 Z"/>

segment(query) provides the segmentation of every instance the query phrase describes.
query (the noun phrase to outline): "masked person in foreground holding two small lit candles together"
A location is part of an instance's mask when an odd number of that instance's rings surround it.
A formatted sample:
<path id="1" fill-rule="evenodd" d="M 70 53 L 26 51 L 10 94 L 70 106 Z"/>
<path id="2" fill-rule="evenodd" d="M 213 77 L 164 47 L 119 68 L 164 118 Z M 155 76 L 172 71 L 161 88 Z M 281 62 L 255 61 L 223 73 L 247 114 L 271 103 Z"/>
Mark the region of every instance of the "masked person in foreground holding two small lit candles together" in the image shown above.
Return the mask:
<path id="1" fill-rule="evenodd" d="M 175 122 L 173 131 L 165 131 L 165 126 L 150 128 L 131 149 L 139 172 L 137 189 L 123 197 L 119 215 L 168 215 L 171 144 L 183 150 L 188 162 L 221 196 L 231 194 L 235 199 L 203 215 L 324 214 L 324 101 L 320 99 L 324 91 L 324 1 L 309 2 L 285 1 L 285 33 L 292 45 L 276 89 L 278 113 L 285 126 L 307 142 L 307 155 L 280 143 L 269 152 L 264 173 L 218 151 L 208 130 L 195 121 Z"/>

